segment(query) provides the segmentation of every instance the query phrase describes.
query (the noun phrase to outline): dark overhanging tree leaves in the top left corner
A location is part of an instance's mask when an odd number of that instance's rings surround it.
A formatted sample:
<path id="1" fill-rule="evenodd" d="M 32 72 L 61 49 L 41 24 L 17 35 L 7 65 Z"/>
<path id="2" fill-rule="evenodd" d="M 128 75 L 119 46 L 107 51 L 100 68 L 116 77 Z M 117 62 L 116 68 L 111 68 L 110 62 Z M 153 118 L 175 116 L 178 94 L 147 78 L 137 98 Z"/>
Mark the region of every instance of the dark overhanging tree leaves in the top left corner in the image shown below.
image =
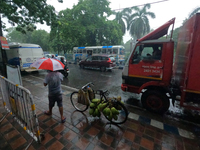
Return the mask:
<path id="1" fill-rule="evenodd" d="M 62 0 L 58 0 L 62 2 Z M 51 25 L 55 20 L 55 8 L 47 5 L 46 0 L 1 0 L 0 1 L 0 36 L 5 30 L 2 17 L 7 18 L 12 25 L 17 24 L 17 30 L 25 33 L 36 29 L 35 23 Z M 26 30 L 24 30 L 26 29 Z"/>

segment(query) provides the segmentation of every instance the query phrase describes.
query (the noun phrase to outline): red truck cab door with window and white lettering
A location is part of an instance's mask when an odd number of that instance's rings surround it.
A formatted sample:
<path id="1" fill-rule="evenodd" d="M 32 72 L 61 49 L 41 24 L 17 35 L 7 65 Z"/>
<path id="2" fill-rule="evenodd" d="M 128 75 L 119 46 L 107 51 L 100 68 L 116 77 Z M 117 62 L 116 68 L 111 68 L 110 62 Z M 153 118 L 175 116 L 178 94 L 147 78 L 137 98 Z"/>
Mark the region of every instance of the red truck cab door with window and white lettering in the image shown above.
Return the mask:
<path id="1" fill-rule="evenodd" d="M 162 80 L 162 44 L 138 44 L 129 60 L 130 84 L 140 87 L 149 81 Z"/>

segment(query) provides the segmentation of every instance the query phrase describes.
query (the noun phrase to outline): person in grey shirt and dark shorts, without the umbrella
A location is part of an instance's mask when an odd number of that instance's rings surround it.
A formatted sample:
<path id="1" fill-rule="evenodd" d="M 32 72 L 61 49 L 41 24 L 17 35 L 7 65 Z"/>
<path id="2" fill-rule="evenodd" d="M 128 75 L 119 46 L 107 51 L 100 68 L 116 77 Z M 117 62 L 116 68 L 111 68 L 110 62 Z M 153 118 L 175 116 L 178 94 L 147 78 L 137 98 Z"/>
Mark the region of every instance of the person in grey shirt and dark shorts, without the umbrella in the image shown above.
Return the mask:
<path id="1" fill-rule="evenodd" d="M 57 106 L 60 111 L 61 122 L 66 121 L 66 117 L 63 116 L 63 104 L 62 104 L 62 89 L 61 81 L 63 80 L 63 75 L 57 71 L 48 71 L 48 74 L 44 79 L 44 86 L 48 85 L 48 98 L 49 98 L 49 110 L 45 111 L 46 115 L 52 115 L 52 109 L 57 102 Z"/>

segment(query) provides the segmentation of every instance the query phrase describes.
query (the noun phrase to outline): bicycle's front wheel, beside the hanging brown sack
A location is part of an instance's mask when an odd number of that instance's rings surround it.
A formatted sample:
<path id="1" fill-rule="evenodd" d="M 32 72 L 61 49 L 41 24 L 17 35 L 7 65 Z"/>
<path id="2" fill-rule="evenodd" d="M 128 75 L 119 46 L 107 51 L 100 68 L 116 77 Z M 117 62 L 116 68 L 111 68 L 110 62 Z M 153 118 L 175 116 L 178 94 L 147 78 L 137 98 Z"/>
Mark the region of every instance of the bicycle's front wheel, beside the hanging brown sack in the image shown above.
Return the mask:
<path id="1" fill-rule="evenodd" d="M 70 100 L 76 110 L 83 112 L 88 109 L 88 105 L 83 105 L 78 102 L 78 92 L 73 92 L 70 96 Z"/>

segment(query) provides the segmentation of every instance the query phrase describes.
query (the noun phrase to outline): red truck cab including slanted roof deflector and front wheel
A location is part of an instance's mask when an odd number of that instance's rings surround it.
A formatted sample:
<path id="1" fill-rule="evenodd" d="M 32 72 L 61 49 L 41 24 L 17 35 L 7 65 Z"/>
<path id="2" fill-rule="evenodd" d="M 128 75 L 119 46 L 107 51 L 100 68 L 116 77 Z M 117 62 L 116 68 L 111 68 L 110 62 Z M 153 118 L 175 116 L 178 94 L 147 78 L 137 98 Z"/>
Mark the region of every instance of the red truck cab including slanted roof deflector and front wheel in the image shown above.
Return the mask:
<path id="1" fill-rule="evenodd" d="M 138 39 L 122 72 L 123 91 L 142 94 L 143 106 L 153 112 L 163 113 L 170 102 L 166 93 L 172 77 L 174 41 L 159 39 L 167 34 L 174 20 Z M 172 37 L 172 35 L 171 35 Z"/>

